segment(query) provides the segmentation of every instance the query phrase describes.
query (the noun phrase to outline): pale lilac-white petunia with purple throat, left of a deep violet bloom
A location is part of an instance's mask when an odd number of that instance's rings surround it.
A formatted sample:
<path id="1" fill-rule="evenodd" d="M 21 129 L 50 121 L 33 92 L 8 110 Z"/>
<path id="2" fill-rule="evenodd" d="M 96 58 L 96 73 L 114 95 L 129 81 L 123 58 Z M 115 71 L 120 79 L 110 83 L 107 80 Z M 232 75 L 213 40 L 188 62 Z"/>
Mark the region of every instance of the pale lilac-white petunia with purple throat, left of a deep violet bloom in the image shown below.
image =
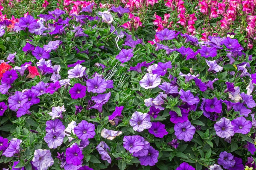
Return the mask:
<path id="1" fill-rule="evenodd" d="M 136 111 L 132 114 L 130 125 L 133 127 L 133 130 L 142 132 L 144 129 L 149 129 L 152 124 L 148 113 Z"/>

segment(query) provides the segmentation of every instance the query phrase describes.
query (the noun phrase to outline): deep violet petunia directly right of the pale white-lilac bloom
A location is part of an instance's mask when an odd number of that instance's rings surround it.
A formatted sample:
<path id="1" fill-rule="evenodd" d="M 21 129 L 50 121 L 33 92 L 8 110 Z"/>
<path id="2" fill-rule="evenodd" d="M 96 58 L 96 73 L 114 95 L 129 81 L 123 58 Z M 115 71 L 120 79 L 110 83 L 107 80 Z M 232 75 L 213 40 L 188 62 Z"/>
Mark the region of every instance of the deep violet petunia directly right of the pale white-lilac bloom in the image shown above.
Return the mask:
<path id="1" fill-rule="evenodd" d="M 163 138 L 164 135 L 168 135 L 165 125 L 161 122 L 152 122 L 152 126 L 148 129 L 148 132 L 157 138 Z"/>

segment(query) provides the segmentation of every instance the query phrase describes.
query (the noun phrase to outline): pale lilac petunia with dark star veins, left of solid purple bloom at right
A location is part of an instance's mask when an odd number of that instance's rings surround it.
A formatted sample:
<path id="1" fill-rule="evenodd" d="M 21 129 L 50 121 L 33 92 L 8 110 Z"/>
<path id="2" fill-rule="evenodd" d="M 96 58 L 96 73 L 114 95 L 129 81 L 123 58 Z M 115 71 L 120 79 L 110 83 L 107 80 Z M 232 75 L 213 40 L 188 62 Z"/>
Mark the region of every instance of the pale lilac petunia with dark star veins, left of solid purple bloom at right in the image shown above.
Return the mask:
<path id="1" fill-rule="evenodd" d="M 228 138 L 230 136 L 234 136 L 234 127 L 231 124 L 230 120 L 222 117 L 218 122 L 215 123 L 214 129 L 216 130 L 216 135 L 221 138 Z"/>

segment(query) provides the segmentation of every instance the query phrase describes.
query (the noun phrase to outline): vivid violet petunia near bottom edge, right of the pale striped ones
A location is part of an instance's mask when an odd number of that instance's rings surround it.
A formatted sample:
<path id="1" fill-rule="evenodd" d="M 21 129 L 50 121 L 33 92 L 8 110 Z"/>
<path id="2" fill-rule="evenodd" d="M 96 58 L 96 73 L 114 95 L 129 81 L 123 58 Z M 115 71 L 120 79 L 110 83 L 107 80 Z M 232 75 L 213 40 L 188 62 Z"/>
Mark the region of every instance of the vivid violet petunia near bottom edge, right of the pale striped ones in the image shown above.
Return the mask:
<path id="1" fill-rule="evenodd" d="M 83 158 L 84 155 L 78 146 L 74 145 L 66 149 L 66 161 L 68 164 L 80 165 Z"/>

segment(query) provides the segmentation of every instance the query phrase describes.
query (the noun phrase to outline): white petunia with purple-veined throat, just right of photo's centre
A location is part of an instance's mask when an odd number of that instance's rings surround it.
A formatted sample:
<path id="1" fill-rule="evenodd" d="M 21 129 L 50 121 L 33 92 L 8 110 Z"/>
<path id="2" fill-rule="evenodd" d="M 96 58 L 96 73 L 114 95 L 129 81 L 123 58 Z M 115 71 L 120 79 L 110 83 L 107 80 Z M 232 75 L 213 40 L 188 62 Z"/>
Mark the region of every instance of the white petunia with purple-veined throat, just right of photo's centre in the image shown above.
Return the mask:
<path id="1" fill-rule="evenodd" d="M 149 88 L 156 88 L 161 83 L 161 78 L 157 74 L 145 74 L 143 79 L 140 80 L 140 86 L 149 89 Z"/>

